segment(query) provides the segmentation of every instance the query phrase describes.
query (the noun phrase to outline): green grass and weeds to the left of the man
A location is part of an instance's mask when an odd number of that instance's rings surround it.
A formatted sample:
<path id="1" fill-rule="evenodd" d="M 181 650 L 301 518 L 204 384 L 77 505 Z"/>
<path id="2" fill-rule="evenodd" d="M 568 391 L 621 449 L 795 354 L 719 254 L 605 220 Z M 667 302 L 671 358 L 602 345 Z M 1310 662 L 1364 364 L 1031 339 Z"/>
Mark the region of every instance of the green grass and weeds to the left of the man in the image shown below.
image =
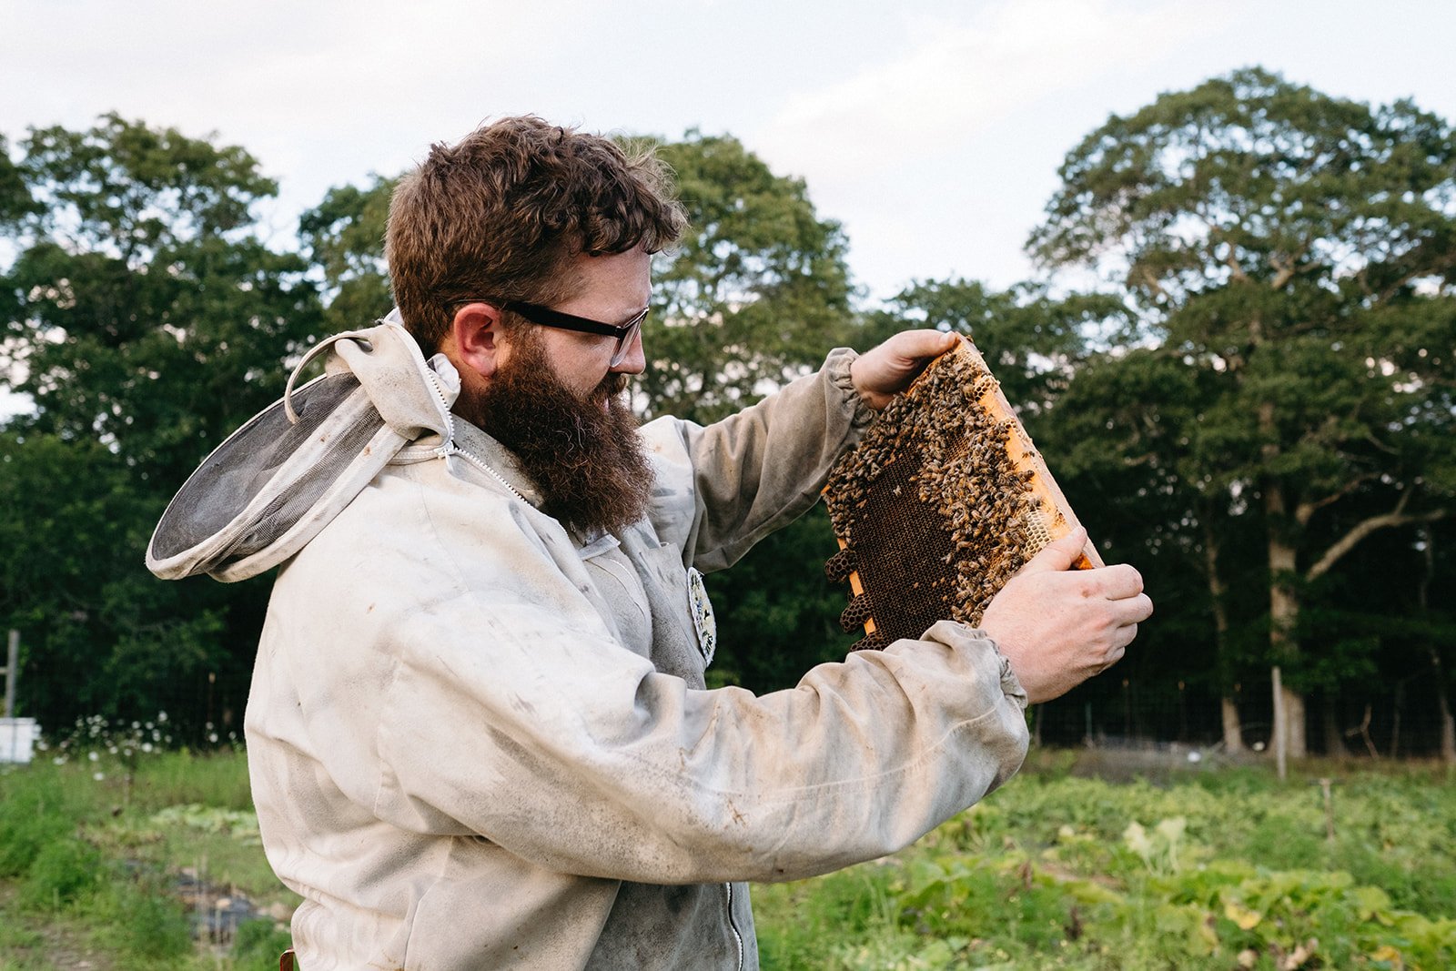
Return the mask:
<path id="1" fill-rule="evenodd" d="M 130 735 L 87 719 L 73 738 L 92 744 L 0 766 L 0 968 L 32 967 L 58 938 L 100 951 L 98 967 L 277 967 L 287 930 L 271 919 L 239 927 L 229 954 L 194 942 L 194 891 L 178 882 L 185 869 L 259 910 L 297 901 L 264 859 L 242 753 L 128 760 Z"/>

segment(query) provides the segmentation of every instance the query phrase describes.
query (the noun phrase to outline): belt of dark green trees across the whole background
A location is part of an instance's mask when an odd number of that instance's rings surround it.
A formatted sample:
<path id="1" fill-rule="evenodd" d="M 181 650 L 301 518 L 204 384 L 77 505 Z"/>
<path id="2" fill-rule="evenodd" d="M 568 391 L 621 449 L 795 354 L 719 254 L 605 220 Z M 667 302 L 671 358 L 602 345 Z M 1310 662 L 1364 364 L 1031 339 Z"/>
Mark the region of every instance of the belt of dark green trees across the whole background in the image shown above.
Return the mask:
<path id="1" fill-rule="evenodd" d="M 1107 559 L 1147 578 L 1139 646 L 1038 731 L 1216 737 L 1200 709 L 1223 696 L 1259 741 L 1283 661 L 1337 740 L 1370 705 L 1372 747 L 1436 747 L 1418 719 L 1456 690 L 1444 121 L 1259 70 L 1169 93 L 1069 154 L 1034 239 L 1048 265 L 1102 271 L 1099 293 L 920 280 L 874 310 L 802 181 L 729 135 L 654 141 L 693 224 L 655 259 L 645 415 L 718 418 L 834 344 L 971 333 Z M 387 309 L 392 185 L 331 189 L 290 249 L 255 221 L 275 186 L 242 147 L 118 115 L 0 137 L 0 364 L 35 403 L 0 428 L 22 715 L 166 709 L 189 745 L 239 731 L 268 581 L 160 584 L 141 550 L 303 348 Z M 711 579 L 715 683 L 783 687 L 843 652 L 831 550 L 814 511 Z"/>

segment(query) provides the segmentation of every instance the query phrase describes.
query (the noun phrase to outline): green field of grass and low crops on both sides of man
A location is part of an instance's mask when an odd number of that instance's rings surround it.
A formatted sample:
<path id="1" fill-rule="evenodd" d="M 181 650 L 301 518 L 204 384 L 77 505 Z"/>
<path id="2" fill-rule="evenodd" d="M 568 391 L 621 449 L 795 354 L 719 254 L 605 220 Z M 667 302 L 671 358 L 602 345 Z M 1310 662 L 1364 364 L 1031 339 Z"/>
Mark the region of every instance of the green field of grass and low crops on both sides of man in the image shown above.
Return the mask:
<path id="1" fill-rule="evenodd" d="M 1073 763 L 1038 754 L 894 857 L 756 887 L 764 968 L 1456 967 L 1447 770 L 1109 783 Z M 296 900 L 240 753 L 93 734 L 0 766 L 0 971 L 277 968 Z"/>

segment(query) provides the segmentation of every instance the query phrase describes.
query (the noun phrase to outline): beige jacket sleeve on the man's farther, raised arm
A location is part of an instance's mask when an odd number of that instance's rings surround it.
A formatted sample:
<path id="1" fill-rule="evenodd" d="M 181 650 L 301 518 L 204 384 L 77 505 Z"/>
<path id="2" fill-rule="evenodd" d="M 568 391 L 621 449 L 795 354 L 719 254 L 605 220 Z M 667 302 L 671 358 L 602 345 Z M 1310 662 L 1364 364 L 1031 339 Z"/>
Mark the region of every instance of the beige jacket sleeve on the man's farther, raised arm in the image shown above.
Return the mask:
<path id="1" fill-rule="evenodd" d="M 652 523 L 703 572 L 735 563 L 818 499 L 830 466 L 871 422 L 837 348 L 814 374 L 703 427 L 662 418 L 642 435 L 657 461 Z"/>

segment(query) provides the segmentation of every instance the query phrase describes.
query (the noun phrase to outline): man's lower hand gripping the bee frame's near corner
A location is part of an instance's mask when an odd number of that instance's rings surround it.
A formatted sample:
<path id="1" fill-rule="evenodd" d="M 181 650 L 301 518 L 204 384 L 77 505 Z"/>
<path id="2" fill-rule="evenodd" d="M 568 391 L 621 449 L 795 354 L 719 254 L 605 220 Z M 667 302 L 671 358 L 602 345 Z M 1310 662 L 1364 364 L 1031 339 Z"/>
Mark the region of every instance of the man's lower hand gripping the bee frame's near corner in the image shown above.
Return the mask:
<path id="1" fill-rule="evenodd" d="M 1050 543 L 1012 576 L 981 616 L 1026 689 L 1028 700 L 1050 702 L 1117 664 L 1153 613 L 1143 578 L 1125 565 L 1070 569 L 1086 530 Z"/>

